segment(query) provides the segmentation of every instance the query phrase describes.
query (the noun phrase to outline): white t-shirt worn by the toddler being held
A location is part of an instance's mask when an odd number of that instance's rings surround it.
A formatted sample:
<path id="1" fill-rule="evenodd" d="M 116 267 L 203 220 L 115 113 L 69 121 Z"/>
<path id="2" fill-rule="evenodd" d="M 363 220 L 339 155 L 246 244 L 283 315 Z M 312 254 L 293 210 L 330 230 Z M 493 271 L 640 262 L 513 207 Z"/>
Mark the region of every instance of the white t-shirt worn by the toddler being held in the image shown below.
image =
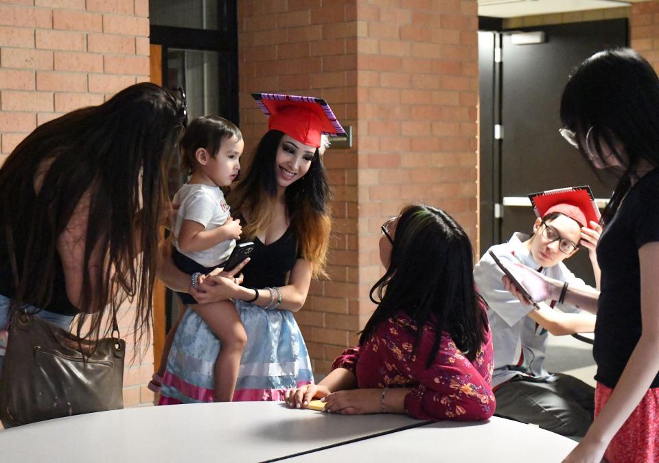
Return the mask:
<path id="1" fill-rule="evenodd" d="M 229 204 L 224 200 L 224 193 L 220 187 L 186 183 L 176 191 L 173 202 L 180 204 L 172 226 L 174 246 L 178 252 L 204 267 L 215 267 L 229 259 L 231 251 L 235 248 L 235 239 L 227 239 L 210 249 L 197 252 L 183 252 L 178 247 L 178 234 L 181 233 L 183 220 L 194 220 L 205 226 L 206 230 L 213 230 L 227 222 L 230 213 Z"/>

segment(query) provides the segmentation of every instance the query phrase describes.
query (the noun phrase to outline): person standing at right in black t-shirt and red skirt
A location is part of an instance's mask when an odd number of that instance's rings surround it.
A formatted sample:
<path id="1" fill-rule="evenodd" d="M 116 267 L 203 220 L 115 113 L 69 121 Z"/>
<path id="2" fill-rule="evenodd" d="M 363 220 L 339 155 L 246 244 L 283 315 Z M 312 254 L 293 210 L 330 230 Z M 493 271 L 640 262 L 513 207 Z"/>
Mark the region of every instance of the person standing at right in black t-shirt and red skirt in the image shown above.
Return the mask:
<path id="1" fill-rule="evenodd" d="M 536 287 L 532 297 L 551 294 L 597 312 L 596 417 L 564 461 L 657 462 L 659 79 L 631 49 L 601 51 L 571 76 L 561 119 L 562 135 L 592 167 L 622 172 L 602 217 L 601 293 L 524 274 Z M 507 287 L 521 297 L 509 281 Z"/>

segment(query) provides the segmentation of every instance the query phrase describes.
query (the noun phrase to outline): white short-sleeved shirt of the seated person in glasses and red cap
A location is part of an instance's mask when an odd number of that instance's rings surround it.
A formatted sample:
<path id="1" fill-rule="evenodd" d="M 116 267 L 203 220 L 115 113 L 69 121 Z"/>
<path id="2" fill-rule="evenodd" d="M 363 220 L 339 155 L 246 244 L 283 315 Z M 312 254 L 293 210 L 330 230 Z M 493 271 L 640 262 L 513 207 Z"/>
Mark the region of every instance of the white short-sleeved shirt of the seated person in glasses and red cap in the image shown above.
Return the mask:
<path id="1" fill-rule="evenodd" d="M 540 265 L 533 259 L 529 248 L 524 245 L 524 241 L 528 239 L 529 235 L 514 233 L 507 243 L 492 246 L 489 250 L 492 250 L 504 265 L 509 262 L 519 262 L 537 270 Z M 567 281 L 570 285 L 586 286 L 586 283 L 570 272 L 562 262 L 542 269 L 541 273 L 560 281 Z M 534 310 L 533 306 L 523 305 L 518 298 L 507 292 L 501 281 L 502 276 L 502 270 L 496 265 L 489 252 L 485 252 L 474 268 L 474 282 L 489 306 L 487 315 L 494 346 L 493 386 L 518 374 L 532 377 L 548 375 L 542 365 L 547 350 L 548 331 L 536 324 L 531 317 L 527 317 L 527 314 Z M 581 309 L 568 304 L 556 303 L 554 308 L 564 312 L 581 312 Z"/>

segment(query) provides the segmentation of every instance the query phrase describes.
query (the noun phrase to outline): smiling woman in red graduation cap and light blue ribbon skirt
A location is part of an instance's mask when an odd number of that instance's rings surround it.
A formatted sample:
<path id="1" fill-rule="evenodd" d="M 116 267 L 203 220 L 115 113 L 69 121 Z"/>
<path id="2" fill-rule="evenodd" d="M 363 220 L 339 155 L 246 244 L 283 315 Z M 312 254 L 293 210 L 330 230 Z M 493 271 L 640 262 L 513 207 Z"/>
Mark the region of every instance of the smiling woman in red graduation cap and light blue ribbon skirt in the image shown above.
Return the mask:
<path id="1" fill-rule="evenodd" d="M 201 303 L 231 298 L 240 313 L 248 341 L 233 400 L 279 401 L 286 390 L 313 382 L 293 312 L 304 304 L 311 278 L 324 272 L 331 222 L 322 155 L 325 134 L 343 128 L 321 99 L 253 96 L 269 116 L 268 132 L 228 200 L 244 224 L 243 241 L 253 241 L 255 250 L 242 285 L 233 275 L 211 274 L 187 290 Z M 167 285 L 187 288 L 189 276 L 171 265 L 163 273 Z M 161 405 L 212 401 L 212 365 L 220 348 L 200 316 L 187 309 L 167 359 Z"/>

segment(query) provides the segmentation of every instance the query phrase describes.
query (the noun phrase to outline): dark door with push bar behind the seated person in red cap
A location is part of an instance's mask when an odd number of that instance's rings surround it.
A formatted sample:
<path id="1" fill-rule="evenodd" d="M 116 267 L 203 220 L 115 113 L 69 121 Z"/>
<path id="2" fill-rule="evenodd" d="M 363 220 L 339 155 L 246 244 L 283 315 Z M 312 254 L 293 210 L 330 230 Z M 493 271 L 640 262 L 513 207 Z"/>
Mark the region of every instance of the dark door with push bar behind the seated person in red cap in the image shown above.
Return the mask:
<path id="1" fill-rule="evenodd" d="M 535 34 L 520 40 L 519 32 Z M 529 193 L 590 185 L 595 198 L 610 198 L 616 179 L 594 174 L 562 139 L 559 108 L 570 71 L 596 51 L 626 46 L 627 38 L 626 19 L 479 32 L 483 252 L 515 231 L 531 233 Z M 594 285 L 588 252 L 577 252 L 568 266 Z"/>

